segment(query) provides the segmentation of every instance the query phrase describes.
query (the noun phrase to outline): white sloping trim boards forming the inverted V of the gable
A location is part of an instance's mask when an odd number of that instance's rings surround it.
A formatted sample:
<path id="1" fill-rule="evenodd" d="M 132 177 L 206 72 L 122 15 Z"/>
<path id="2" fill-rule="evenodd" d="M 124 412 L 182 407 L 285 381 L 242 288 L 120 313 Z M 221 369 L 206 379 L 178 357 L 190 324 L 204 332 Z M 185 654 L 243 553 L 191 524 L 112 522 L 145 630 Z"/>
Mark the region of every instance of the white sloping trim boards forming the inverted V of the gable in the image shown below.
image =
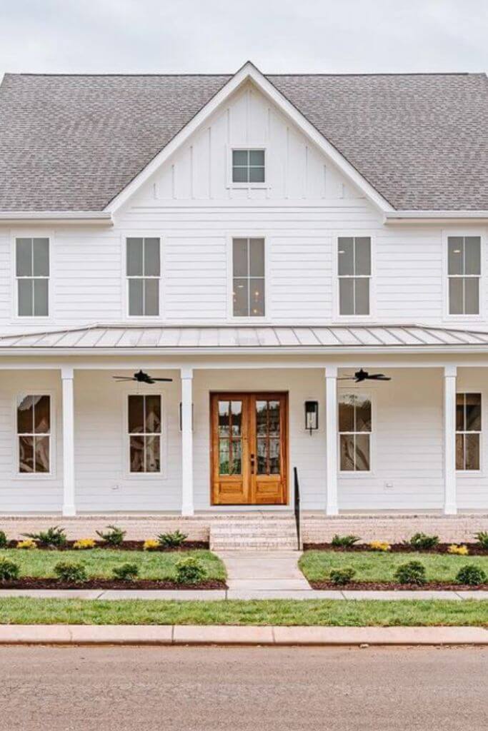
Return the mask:
<path id="1" fill-rule="evenodd" d="M 255 86 L 271 100 L 271 102 L 274 102 L 282 113 L 288 115 L 290 120 L 296 124 L 301 132 L 303 132 L 309 140 L 317 145 L 323 154 L 325 154 L 329 160 L 334 163 L 337 169 L 345 175 L 346 178 L 348 178 L 350 183 L 356 186 L 364 194 L 364 196 L 367 197 L 373 205 L 375 205 L 375 208 L 378 208 L 381 213 L 394 211 L 393 206 L 391 206 L 390 203 L 388 203 L 388 201 L 383 198 L 383 196 L 380 195 L 380 193 L 378 193 L 378 191 L 373 188 L 373 186 L 368 183 L 365 178 L 363 178 L 358 170 L 356 170 L 356 167 L 351 165 L 350 162 L 348 162 L 348 160 L 339 153 L 334 145 L 329 143 L 329 140 L 326 140 L 326 137 L 321 135 L 320 132 L 318 132 L 318 129 L 316 129 L 315 126 L 313 126 L 313 124 L 311 124 L 250 61 L 247 61 L 247 63 L 244 64 L 244 66 L 241 67 L 241 69 L 239 69 L 239 71 L 236 72 L 236 74 L 228 81 L 228 83 L 226 83 L 225 86 L 222 86 L 220 91 L 217 91 L 217 94 L 212 96 L 210 101 L 200 109 L 200 111 L 188 122 L 186 126 L 184 126 L 183 129 L 181 129 L 180 132 L 178 132 L 175 137 L 173 137 L 173 140 L 170 140 L 168 145 L 166 145 L 165 148 L 163 148 L 151 160 L 151 162 L 149 162 L 146 167 L 144 167 L 143 170 L 141 170 L 140 173 L 138 173 L 138 175 L 136 175 L 135 178 L 133 178 L 133 180 L 123 190 L 121 190 L 121 192 L 116 195 L 113 200 L 110 201 L 110 203 L 105 207 L 105 211 L 110 211 L 110 213 L 118 211 L 119 208 L 121 208 L 121 205 L 124 205 L 124 203 L 140 189 L 140 186 L 146 183 L 146 181 L 151 178 L 151 175 L 159 170 L 159 167 L 161 167 L 161 165 L 188 140 L 190 135 L 193 135 L 193 133 L 205 123 L 210 115 L 213 114 L 214 111 L 217 110 L 217 108 L 222 105 L 231 94 L 249 80 L 252 81 L 252 83 L 254 83 Z"/>

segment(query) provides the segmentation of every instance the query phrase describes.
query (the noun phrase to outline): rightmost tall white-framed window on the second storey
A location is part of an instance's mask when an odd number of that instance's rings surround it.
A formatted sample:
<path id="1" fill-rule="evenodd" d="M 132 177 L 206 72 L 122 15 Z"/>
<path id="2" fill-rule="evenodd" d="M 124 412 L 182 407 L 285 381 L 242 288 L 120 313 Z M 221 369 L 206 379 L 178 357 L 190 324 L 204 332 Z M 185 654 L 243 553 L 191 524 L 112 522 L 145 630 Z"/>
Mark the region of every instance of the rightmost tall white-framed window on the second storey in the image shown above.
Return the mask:
<path id="1" fill-rule="evenodd" d="M 481 238 L 448 236 L 449 314 L 479 314 Z"/>

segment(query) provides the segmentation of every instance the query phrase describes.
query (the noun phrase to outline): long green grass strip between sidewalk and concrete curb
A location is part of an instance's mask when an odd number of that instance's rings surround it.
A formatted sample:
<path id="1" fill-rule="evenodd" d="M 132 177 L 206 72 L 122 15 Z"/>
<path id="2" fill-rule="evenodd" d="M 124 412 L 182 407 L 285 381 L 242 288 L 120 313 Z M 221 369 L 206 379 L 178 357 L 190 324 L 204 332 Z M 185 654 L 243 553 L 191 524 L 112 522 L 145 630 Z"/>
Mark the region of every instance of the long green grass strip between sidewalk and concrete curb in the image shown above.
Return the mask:
<path id="1" fill-rule="evenodd" d="M 488 602 L 442 601 L 86 601 L 0 599 L 0 624 L 281 624 L 488 626 Z"/>

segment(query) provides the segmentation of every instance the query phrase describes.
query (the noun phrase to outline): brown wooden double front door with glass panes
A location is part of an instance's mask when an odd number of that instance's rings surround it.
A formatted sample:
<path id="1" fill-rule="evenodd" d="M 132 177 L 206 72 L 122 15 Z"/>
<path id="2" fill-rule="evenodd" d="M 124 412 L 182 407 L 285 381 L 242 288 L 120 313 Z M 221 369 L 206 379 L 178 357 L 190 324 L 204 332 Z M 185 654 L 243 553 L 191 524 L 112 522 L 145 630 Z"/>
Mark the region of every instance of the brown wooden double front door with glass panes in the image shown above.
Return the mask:
<path id="1" fill-rule="evenodd" d="M 211 395 L 211 501 L 287 503 L 288 395 Z"/>

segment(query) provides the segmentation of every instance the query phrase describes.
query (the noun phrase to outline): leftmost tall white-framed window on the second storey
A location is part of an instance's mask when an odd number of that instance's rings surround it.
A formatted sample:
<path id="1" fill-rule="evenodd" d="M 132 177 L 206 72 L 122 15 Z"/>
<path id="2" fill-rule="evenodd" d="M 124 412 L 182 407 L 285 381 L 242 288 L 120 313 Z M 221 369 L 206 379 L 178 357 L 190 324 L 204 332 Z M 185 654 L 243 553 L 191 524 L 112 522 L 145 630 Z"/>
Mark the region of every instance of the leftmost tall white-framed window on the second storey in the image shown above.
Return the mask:
<path id="1" fill-rule="evenodd" d="M 49 239 L 15 239 L 15 276 L 19 317 L 48 317 Z"/>

